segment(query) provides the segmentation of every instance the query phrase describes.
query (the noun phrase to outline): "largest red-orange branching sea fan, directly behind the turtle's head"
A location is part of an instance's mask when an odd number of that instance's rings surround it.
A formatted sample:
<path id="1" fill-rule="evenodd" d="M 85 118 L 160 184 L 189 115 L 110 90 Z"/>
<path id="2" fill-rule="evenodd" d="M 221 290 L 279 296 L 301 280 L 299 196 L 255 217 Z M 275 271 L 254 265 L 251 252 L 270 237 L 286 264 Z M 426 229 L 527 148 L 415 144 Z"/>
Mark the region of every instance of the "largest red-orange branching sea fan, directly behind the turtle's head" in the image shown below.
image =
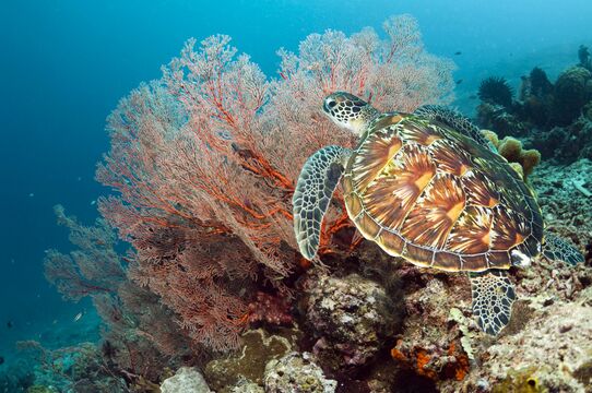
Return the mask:
<path id="1" fill-rule="evenodd" d="M 256 281 L 289 291 L 299 168 L 320 146 L 355 141 L 322 116 L 323 96 L 350 91 L 407 111 L 452 98 L 453 66 L 425 52 L 415 20 L 392 17 L 384 29 L 386 40 L 369 28 L 310 35 L 298 55 L 280 51 L 281 78 L 271 82 L 229 37 L 198 49 L 191 39 L 161 80 L 109 117 L 111 148 L 97 179 L 119 196 L 99 210 L 135 250 L 130 276 L 161 296 L 194 342 L 235 348 Z M 344 209 L 330 211 L 321 258 L 347 225 Z"/>

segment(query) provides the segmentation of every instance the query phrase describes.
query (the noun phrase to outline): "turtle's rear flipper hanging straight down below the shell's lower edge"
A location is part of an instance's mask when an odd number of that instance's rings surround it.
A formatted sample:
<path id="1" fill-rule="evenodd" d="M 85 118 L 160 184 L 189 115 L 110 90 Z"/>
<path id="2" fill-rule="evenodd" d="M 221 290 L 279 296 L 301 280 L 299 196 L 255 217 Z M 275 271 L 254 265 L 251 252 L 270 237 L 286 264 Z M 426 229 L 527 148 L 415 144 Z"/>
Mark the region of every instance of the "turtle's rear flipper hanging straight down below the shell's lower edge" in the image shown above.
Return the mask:
<path id="1" fill-rule="evenodd" d="M 516 300 L 513 285 L 506 271 L 489 270 L 470 273 L 473 294 L 473 314 L 479 327 L 487 334 L 497 335 L 510 322 Z"/>

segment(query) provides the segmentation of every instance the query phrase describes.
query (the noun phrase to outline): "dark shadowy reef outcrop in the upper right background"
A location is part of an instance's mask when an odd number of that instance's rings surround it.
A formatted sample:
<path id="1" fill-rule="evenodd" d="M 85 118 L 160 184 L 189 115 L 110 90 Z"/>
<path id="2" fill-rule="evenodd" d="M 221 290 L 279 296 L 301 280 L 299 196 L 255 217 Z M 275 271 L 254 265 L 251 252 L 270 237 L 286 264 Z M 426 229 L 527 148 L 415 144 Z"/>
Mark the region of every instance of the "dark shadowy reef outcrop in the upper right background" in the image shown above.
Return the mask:
<path id="1" fill-rule="evenodd" d="M 569 164 L 592 158 L 592 71 L 585 67 L 590 55 L 583 46 L 579 58 L 580 63 L 561 72 L 555 84 L 535 67 L 530 75 L 522 76 L 518 100 L 511 106 L 482 94 L 477 122 L 500 138 L 521 138 L 547 159 Z"/>

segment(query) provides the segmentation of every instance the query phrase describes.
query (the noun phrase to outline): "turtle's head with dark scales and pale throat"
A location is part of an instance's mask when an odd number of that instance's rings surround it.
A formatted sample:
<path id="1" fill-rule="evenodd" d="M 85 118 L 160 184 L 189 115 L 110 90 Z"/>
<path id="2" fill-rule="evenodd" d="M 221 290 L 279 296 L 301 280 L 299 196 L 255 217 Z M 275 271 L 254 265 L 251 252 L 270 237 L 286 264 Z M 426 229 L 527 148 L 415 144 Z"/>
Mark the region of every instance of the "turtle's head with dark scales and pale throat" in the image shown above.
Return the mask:
<path id="1" fill-rule="evenodd" d="M 379 115 L 370 104 L 345 92 L 327 96 L 322 109 L 333 122 L 357 135 L 362 135 L 370 121 Z"/>

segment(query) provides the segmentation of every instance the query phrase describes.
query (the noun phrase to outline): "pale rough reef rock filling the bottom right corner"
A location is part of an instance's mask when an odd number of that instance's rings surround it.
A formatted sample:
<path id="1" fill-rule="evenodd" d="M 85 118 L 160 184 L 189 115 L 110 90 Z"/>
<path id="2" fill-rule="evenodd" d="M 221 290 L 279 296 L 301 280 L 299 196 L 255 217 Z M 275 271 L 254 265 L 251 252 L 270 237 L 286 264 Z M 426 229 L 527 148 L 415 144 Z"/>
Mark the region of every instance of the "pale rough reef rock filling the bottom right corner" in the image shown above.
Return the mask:
<path id="1" fill-rule="evenodd" d="M 540 392 L 583 391 L 590 381 L 578 376 L 592 356 L 591 318 L 590 303 L 556 303 L 537 310 L 521 332 L 505 335 L 487 348 L 487 362 L 475 372 L 495 381 L 490 382 L 493 392 L 520 386 Z"/>

